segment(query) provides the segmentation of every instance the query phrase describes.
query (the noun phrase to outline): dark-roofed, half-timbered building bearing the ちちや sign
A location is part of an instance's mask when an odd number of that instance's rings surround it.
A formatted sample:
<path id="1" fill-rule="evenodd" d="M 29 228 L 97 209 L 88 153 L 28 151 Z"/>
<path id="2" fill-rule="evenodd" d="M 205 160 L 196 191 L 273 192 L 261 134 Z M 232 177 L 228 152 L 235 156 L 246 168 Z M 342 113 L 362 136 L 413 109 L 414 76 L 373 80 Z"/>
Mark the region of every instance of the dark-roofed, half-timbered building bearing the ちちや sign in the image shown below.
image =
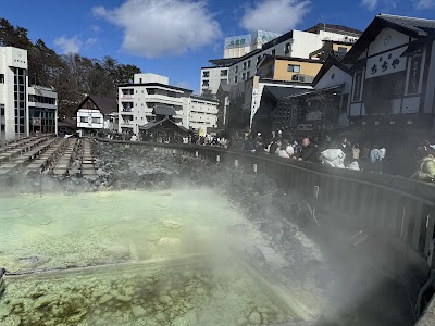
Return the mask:
<path id="1" fill-rule="evenodd" d="M 352 65 L 352 131 L 402 149 L 435 135 L 434 36 L 433 20 L 375 16 L 344 58 Z"/>

